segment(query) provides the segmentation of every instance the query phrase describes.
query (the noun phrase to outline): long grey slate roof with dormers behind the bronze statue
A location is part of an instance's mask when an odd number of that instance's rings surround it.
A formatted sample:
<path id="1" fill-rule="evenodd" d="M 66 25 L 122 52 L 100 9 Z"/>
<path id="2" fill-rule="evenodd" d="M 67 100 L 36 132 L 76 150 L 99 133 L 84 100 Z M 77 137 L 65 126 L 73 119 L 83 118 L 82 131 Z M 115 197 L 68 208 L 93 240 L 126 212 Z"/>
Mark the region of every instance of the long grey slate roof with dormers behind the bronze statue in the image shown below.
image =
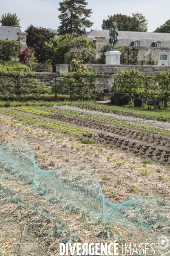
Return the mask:
<path id="1" fill-rule="evenodd" d="M 106 37 L 105 44 L 109 41 L 109 31 L 102 29 L 94 29 L 80 37 L 87 37 L 93 41 L 95 36 Z M 140 41 L 141 47 L 153 47 L 153 42 L 160 41 L 161 47 L 170 48 L 170 33 L 119 31 L 117 45 L 132 46 L 132 41 Z"/>

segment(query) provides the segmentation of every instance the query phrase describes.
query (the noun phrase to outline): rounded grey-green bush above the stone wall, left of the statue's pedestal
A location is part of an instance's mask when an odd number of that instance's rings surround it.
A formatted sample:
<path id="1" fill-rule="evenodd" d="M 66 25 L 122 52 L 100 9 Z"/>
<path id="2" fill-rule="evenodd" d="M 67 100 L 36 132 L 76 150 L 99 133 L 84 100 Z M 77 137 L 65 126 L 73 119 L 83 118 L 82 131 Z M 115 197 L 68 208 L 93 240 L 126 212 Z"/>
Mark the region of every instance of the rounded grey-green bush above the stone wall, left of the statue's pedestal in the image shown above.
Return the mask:
<path id="1" fill-rule="evenodd" d="M 82 63 L 94 63 L 96 60 L 96 49 L 90 47 L 72 48 L 64 56 L 64 63 L 69 64 L 73 59 L 82 60 Z"/>

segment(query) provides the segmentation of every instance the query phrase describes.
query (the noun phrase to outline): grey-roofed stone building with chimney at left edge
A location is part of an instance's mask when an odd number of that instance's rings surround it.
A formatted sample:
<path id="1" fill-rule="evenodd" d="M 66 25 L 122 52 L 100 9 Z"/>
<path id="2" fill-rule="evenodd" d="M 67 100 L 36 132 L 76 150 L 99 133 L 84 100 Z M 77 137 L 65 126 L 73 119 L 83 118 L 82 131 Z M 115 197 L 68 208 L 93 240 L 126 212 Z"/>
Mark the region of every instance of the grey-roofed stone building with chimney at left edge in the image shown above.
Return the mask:
<path id="1" fill-rule="evenodd" d="M 26 49 L 26 35 L 27 33 L 21 32 L 19 27 L 0 26 L 0 41 L 15 40 L 22 44 L 23 49 Z"/>

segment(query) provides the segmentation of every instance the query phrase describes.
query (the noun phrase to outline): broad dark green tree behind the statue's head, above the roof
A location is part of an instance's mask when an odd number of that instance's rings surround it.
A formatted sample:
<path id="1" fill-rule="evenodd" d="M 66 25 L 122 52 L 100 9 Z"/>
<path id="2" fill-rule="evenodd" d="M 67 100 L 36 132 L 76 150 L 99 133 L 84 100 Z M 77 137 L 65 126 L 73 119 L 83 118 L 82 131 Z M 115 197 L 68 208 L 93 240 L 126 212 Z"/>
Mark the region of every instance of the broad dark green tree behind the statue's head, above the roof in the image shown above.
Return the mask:
<path id="1" fill-rule="evenodd" d="M 147 32 L 147 20 L 142 13 L 132 13 L 132 17 L 122 14 L 108 15 L 107 20 L 103 20 L 102 29 L 109 30 L 113 21 L 116 22 L 118 30 Z"/>

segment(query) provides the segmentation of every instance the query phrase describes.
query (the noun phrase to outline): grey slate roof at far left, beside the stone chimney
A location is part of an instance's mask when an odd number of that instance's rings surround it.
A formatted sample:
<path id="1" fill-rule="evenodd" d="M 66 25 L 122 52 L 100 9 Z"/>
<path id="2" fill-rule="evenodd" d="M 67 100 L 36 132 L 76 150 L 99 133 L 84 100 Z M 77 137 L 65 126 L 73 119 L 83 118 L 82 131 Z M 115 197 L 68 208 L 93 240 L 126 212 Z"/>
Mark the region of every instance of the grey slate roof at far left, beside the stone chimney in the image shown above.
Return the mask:
<path id="1" fill-rule="evenodd" d="M 21 32 L 18 27 L 8 27 L 8 26 L 0 26 L 0 40 L 17 40 L 18 35 L 17 32 Z"/>

